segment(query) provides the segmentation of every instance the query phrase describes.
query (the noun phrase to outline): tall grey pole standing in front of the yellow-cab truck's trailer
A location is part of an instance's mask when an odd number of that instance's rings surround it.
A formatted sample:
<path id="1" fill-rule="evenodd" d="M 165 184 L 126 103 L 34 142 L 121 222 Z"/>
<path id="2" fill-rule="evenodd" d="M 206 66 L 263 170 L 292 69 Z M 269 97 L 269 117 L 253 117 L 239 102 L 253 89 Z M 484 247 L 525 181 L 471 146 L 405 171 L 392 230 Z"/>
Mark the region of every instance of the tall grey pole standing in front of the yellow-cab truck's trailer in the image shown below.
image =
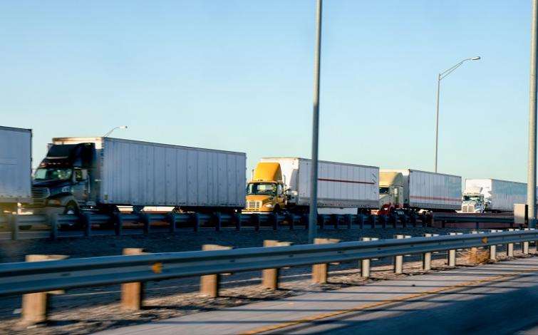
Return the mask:
<path id="1" fill-rule="evenodd" d="M 321 56 L 321 7 L 317 3 L 316 56 L 314 58 L 314 118 L 312 122 L 312 160 L 310 172 L 309 243 L 314 243 L 318 229 L 318 143 L 319 143 L 319 63 Z"/>

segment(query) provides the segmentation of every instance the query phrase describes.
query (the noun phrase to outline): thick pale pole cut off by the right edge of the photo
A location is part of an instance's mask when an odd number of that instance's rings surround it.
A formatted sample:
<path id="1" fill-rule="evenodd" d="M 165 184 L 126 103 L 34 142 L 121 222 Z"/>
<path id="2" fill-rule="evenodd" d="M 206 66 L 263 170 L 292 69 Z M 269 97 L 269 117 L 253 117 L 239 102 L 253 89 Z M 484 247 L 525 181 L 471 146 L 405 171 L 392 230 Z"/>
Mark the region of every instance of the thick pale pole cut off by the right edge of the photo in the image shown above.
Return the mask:
<path id="1" fill-rule="evenodd" d="M 529 227 L 536 228 L 536 90 L 537 90 L 537 16 L 538 0 L 532 1 L 531 28 L 531 76 L 529 102 L 529 168 L 527 170 L 527 204 L 529 205 Z"/>

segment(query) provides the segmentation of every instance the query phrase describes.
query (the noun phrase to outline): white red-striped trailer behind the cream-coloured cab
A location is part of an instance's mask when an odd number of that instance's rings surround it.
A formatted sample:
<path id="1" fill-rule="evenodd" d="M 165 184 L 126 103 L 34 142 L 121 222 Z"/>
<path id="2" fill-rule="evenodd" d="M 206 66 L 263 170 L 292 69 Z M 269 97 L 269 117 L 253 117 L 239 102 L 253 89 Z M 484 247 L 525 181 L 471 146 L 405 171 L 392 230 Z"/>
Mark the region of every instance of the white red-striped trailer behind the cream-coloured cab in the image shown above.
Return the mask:
<path id="1" fill-rule="evenodd" d="M 403 175 L 403 207 L 418 210 L 460 210 L 462 178 L 419 170 L 381 170 Z"/>

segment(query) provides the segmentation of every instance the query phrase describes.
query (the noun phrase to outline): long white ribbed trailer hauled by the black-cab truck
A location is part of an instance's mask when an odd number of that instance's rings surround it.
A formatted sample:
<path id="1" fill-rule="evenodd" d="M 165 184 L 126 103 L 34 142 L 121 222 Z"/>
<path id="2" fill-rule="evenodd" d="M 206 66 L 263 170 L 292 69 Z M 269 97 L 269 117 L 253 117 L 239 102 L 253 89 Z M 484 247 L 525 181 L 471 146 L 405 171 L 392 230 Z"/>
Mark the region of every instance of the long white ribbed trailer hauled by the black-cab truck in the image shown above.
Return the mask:
<path id="1" fill-rule="evenodd" d="M 185 210 L 244 207 L 244 153 L 118 138 L 53 138 L 53 145 L 81 143 L 90 143 L 95 148 L 95 172 L 90 183 L 92 190 L 86 192 L 93 199 L 80 199 L 79 207 L 85 204 L 174 206 Z M 49 153 L 52 150 L 53 147 Z M 61 152 L 61 148 L 57 151 Z M 66 165 L 76 161 L 77 158 L 71 157 Z M 53 163 L 53 158 L 46 158 L 41 164 Z"/>

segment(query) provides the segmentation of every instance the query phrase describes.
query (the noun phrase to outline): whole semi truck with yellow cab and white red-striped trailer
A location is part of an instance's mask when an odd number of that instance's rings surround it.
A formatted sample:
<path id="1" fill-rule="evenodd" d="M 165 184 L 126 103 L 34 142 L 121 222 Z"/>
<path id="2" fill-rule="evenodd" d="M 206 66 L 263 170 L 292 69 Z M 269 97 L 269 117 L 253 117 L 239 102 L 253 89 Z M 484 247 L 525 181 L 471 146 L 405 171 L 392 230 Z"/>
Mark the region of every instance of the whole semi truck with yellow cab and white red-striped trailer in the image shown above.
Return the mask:
<path id="1" fill-rule="evenodd" d="M 377 208 L 378 177 L 378 167 L 319 161 L 319 213 L 356 214 Z M 262 158 L 247 185 L 243 212 L 307 212 L 310 179 L 309 159 Z"/>

